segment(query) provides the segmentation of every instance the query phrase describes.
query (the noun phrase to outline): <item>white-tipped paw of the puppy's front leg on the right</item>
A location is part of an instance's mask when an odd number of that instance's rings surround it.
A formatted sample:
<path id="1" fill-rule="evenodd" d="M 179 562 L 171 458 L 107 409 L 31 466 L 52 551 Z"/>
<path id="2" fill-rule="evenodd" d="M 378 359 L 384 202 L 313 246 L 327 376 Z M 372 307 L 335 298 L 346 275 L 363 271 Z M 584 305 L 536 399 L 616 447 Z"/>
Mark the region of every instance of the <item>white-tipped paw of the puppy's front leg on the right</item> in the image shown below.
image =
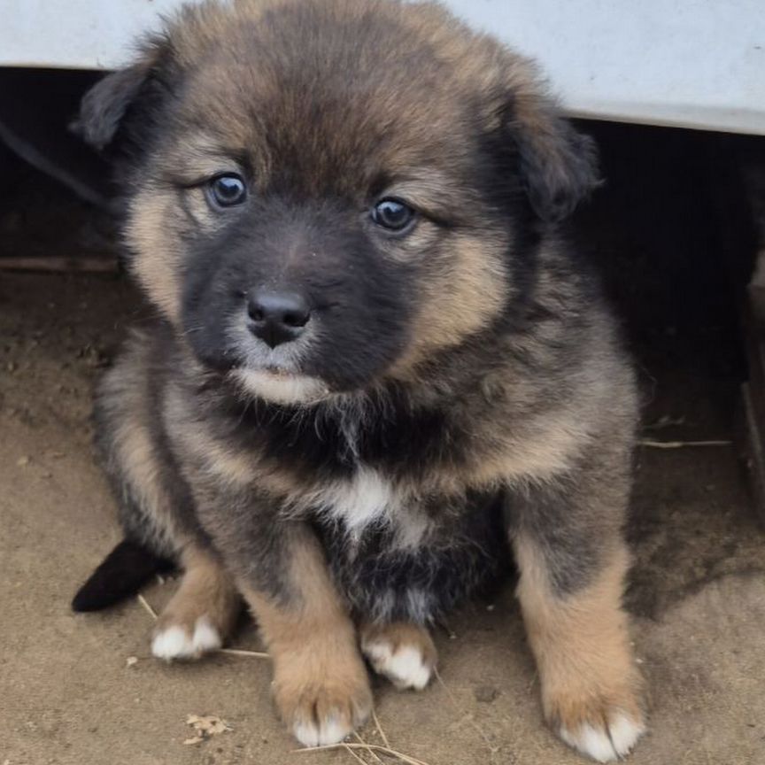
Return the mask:
<path id="1" fill-rule="evenodd" d="M 622 691 L 581 699 L 550 699 L 548 719 L 568 746 L 598 762 L 621 760 L 645 733 L 638 695 Z"/>

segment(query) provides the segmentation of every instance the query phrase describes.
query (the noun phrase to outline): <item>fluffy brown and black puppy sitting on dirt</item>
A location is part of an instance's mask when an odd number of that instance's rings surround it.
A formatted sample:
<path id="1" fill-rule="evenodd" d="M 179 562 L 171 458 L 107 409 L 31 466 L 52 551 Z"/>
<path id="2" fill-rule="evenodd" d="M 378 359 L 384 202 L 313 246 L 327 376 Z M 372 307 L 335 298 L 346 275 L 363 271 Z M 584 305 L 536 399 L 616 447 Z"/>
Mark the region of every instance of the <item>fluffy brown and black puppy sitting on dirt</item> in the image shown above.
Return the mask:
<path id="1" fill-rule="evenodd" d="M 436 4 L 213 0 L 80 129 L 126 168 L 158 318 L 98 391 L 127 541 L 74 607 L 176 561 L 153 653 L 215 650 L 243 598 L 284 722 L 332 744 L 369 715 L 365 657 L 423 688 L 427 625 L 512 547 L 545 718 L 628 753 L 636 393 L 558 225 L 594 151 L 534 66 Z"/>

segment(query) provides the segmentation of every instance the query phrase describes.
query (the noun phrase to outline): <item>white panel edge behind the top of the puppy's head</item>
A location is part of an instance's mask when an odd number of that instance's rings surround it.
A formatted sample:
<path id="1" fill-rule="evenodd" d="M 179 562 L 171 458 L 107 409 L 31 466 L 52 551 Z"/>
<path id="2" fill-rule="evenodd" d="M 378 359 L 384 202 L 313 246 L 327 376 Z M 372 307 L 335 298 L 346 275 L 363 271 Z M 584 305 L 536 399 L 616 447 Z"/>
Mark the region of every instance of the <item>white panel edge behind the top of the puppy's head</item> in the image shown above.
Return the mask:
<path id="1" fill-rule="evenodd" d="M 112 68 L 181 0 L 0 0 L 0 66 Z M 447 0 L 569 112 L 765 135 L 765 0 Z"/>

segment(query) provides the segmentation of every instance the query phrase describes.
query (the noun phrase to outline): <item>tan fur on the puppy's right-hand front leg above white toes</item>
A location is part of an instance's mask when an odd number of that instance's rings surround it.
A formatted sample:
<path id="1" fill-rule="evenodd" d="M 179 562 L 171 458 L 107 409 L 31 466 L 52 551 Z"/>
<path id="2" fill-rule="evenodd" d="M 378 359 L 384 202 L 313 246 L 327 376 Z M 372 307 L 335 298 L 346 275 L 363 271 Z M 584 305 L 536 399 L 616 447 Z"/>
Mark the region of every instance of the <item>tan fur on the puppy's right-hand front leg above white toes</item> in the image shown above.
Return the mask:
<path id="1" fill-rule="evenodd" d="M 519 537 L 514 547 L 521 569 L 518 597 L 548 723 L 556 729 L 589 724 L 602 730 L 621 712 L 642 724 L 642 681 L 621 607 L 628 563 L 623 546 L 590 587 L 565 599 L 551 591 L 535 546 Z"/>

